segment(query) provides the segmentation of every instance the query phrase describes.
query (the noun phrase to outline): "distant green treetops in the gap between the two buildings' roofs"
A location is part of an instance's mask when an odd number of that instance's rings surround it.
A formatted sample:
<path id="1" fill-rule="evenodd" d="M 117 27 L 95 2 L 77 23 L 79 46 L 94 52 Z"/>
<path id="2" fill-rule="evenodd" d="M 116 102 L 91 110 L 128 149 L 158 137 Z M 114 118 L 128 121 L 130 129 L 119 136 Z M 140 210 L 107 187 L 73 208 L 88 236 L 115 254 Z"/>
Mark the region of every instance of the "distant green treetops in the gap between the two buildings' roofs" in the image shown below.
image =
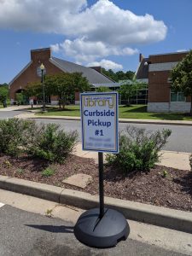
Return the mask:
<path id="1" fill-rule="evenodd" d="M 102 68 L 102 73 L 115 82 L 119 82 L 119 80 L 133 79 L 134 76 L 134 72 L 132 71 L 127 71 L 125 73 L 123 71 L 118 71 L 114 73 L 112 69 L 106 70 L 105 68 Z"/>

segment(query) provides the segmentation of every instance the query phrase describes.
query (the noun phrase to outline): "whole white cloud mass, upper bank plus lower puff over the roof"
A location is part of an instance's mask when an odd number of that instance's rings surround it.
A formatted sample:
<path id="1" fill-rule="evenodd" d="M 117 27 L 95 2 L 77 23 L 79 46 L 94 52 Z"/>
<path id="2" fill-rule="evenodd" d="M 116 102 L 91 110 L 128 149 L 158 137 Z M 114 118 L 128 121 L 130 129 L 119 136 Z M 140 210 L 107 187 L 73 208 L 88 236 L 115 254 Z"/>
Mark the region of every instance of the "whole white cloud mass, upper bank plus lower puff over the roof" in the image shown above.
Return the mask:
<path id="1" fill-rule="evenodd" d="M 59 33 L 65 39 L 52 44 L 53 51 L 86 63 L 137 54 L 133 45 L 159 42 L 167 31 L 153 15 L 136 15 L 109 0 L 90 7 L 87 0 L 0 0 L 0 28 Z"/>

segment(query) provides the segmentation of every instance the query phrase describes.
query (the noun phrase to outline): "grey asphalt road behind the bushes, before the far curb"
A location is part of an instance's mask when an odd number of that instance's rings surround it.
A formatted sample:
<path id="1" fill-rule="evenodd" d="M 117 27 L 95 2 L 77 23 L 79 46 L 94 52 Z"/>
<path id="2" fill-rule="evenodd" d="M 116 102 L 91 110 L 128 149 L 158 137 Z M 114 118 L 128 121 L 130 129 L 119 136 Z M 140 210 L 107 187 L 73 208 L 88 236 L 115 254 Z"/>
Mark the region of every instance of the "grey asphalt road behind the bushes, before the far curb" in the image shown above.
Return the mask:
<path id="1" fill-rule="evenodd" d="M 23 113 L 22 111 L 3 111 L 0 112 L 0 119 L 14 117 Z M 62 129 L 66 131 L 79 131 L 79 141 L 81 141 L 81 126 L 79 121 L 69 120 L 53 120 L 53 119 L 36 119 L 39 123 L 55 123 L 61 125 Z M 123 130 L 127 124 L 119 123 L 119 130 Z M 143 127 L 146 130 L 157 131 L 162 129 L 172 130 L 172 135 L 168 139 L 168 143 L 163 148 L 165 150 L 177 152 L 191 152 L 192 153 L 192 126 L 183 125 L 146 125 L 146 124 L 131 124 L 137 127 Z"/>

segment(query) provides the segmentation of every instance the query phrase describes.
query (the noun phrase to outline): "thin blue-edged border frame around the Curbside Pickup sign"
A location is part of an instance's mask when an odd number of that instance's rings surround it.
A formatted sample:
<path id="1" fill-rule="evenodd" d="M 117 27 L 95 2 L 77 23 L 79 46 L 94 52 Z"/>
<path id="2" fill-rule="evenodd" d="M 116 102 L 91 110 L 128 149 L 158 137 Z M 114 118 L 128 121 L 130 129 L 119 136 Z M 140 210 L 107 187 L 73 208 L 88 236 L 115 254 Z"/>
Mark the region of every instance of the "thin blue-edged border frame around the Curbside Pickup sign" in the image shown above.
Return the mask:
<path id="1" fill-rule="evenodd" d="M 113 127 L 114 134 L 113 134 L 113 141 L 114 141 L 114 148 L 109 149 L 109 148 L 94 148 L 94 147 L 88 147 L 85 145 L 85 136 L 84 136 L 84 106 L 83 106 L 83 98 L 84 97 L 98 97 L 98 96 L 113 96 L 114 98 L 114 115 L 113 115 Z M 87 107 L 88 108 L 88 107 Z M 98 107 L 92 107 L 95 111 L 98 109 Z M 82 134 L 82 150 L 86 151 L 95 151 L 95 152 L 108 152 L 112 154 L 118 154 L 119 153 L 119 93 L 117 91 L 112 91 L 112 92 L 84 92 L 80 94 L 80 113 L 81 113 L 81 134 Z M 92 119 L 94 117 L 91 117 Z M 95 117 L 96 118 L 96 117 Z M 111 119 L 112 117 L 106 117 L 108 119 Z M 98 119 L 98 117 L 97 117 Z"/>

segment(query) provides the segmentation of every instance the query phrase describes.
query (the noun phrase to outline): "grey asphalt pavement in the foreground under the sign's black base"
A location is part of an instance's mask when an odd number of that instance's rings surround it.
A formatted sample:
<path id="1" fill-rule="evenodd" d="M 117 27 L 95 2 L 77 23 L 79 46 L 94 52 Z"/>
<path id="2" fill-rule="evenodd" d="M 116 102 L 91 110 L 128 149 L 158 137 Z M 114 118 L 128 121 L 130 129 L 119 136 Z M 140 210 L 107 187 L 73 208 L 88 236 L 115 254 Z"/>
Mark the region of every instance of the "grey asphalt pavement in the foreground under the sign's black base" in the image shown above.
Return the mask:
<path id="1" fill-rule="evenodd" d="M 72 223 L 1 204 L 0 230 L 1 256 L 186 255 L 130 238 L 108 249 L 86 247 L 73 235 Z"/>

